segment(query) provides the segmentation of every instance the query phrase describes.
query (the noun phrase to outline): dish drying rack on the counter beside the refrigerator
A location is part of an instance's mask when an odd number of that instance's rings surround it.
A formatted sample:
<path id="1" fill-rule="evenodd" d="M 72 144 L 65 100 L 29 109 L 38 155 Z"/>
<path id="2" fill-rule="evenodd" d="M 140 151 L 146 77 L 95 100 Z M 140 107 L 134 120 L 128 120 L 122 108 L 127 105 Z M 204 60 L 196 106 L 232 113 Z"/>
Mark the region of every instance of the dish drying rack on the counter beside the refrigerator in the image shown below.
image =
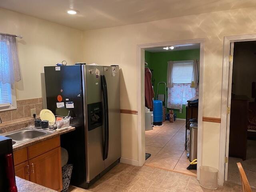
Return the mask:
<path id="1" fill-rule="evenodd" d="M 57 116 L 57 115 L 55 116 L 55 118 L 56 117 L 65 118 L 64 116 Z M 58 129 L 69 127 L 72 122 L 72 119 L 73 118 L 69 117 L 66 120 L 56 121 L 54 125 L 49 125 L 49 122 L 47 120 L 41 120 L 40 118 L 36 118 L 34 122 L 35 122 L 35 127 L 37 129 L 56 131 Z"/>

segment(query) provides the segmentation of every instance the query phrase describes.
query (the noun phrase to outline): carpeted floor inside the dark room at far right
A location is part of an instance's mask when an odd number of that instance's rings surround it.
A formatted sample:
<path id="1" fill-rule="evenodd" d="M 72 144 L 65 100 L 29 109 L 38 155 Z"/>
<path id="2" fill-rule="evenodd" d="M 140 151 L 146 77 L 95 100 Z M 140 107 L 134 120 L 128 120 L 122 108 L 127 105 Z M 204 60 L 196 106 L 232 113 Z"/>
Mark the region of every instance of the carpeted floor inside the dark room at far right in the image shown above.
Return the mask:
<path id="1" fill-rule="evenodd" d="M 239 170 L 236 163 L 241 162 L 252 188 L 256 188 L 256 141 L 247 141 L 246 160 L 229 157 L 228 159 L 228 182 L 241 184 Z"/>

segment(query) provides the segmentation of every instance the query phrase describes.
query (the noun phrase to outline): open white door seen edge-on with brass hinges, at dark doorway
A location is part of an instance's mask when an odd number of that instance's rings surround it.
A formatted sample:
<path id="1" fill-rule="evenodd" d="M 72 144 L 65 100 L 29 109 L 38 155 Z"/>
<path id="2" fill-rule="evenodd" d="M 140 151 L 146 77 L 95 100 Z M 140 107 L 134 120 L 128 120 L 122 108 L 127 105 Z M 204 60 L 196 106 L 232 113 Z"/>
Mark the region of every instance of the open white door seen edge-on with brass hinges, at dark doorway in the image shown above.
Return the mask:
<path id="1" fill-rule="evenodd" d="M 225 160 L 225 181 L 228 180 L 228 150 L 229 150 L 229 128 L 230 128 L 230 106 L 231 106 L 231 88 L 232 88 L 232 72 L 233 72 L 233 55 L 234 42 L 230 43 L 229 56 L 229 80 L 228 80 L 228 110 L 227 110 L 227 132 L 226 132 L 226 160 Z"/>

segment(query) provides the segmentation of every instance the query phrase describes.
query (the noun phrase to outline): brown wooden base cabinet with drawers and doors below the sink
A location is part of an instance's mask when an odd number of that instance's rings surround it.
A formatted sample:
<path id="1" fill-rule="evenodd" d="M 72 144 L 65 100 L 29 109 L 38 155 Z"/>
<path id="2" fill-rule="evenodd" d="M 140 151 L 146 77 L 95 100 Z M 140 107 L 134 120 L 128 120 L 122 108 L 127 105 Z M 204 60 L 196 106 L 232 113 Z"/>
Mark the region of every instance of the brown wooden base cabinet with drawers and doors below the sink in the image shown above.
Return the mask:
<path id="1" fill-rule="evenodd" d="M 36 184 L 62 190 L 60 137 L 14 152 L 15 175 Z"/>

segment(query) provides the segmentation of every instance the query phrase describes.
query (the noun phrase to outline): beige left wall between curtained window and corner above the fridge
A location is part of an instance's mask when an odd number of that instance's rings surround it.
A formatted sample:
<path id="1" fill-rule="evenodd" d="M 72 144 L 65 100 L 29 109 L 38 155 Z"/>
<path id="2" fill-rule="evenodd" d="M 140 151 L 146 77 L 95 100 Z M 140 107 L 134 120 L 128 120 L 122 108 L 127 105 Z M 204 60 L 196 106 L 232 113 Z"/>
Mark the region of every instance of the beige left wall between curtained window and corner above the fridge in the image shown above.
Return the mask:
<path id="1" fill-rule="evenodd" d="M 16 84 L 17 99 L 42 97 L 40 73 L 44 66 L 62 60 L 82 61 L 82 31 L 0 8 L 0 32 L 17 38 L 22 80 Z"/>

